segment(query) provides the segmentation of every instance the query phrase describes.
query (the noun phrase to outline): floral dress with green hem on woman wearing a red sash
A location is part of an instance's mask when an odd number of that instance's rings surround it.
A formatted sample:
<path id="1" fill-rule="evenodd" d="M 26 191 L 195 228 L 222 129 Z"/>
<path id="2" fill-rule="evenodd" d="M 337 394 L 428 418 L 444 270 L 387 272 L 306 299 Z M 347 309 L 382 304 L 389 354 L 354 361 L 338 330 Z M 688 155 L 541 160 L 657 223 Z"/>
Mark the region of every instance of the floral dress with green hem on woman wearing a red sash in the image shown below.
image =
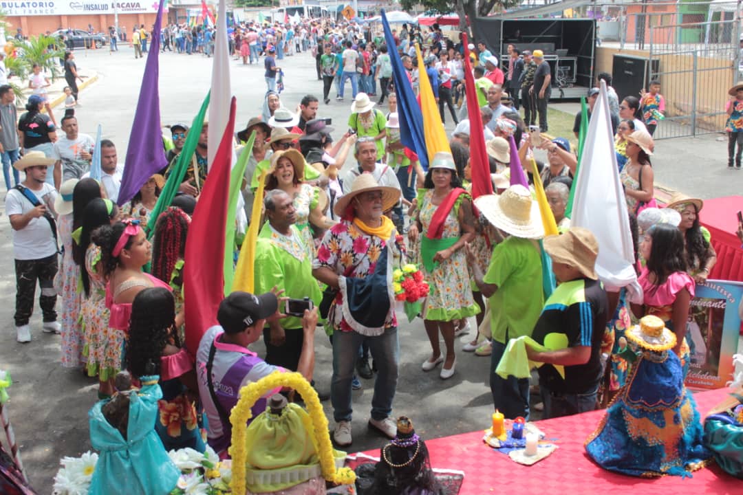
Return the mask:
<path id="1" fill-rule="evenodd" d="M 423 225 L 421 236 L 424 236 L 438 206 L 431 202 L 433 189 L 419 191 L 418 197 L 420 198 L 418 203 L 421 209 L 420 219 Z M 469 196 L 460 195 L 454 203 L 444 222 L 441 239 L 455 240 L 461 237 L 458 211 L 463 197 Z M 454 321 L 474 316 L 480 312 L 480 307 L 472 296 L 470 272 L 467 269 L 464 249 L 454 252 L 448 260 L 439 263 L 432 270 L 426 269 L 425 263 L 422 262 L 422 255 L 419 255 L 419 258 L 421 258 L 419 268 L 431 288 L 423 306 L 425 320 Z"/>

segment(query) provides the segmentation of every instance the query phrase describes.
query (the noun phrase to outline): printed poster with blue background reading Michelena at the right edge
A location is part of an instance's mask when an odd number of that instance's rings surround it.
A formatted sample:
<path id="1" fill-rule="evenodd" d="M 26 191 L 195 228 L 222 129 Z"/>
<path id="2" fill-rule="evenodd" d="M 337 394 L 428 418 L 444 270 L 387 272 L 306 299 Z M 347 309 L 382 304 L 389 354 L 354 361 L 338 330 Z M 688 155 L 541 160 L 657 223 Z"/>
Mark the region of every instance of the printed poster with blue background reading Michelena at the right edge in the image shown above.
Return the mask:
<path id="1" fill-rule="evenodd" d="M 707 281 L 697 284 L 687 323 L 691 367 L 686 384 L 721 388 L 733 379 L 733 354 L 743 312 L 743 283 Z"/>

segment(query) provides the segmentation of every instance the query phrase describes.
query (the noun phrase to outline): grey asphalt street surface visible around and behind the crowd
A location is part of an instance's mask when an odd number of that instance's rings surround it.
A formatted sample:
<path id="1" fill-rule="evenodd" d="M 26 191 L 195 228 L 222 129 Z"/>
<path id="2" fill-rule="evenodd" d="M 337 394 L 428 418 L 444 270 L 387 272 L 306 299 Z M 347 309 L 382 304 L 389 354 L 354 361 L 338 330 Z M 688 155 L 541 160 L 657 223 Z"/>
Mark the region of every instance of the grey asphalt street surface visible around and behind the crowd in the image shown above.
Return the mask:
<path id="1" fill-rule="evenodd" d="M 192 121 L 210 85 L 211 62 L 201 55 L 165 53 L 160 56 L 163 124 Z M 317 81 L 311 56 L 302 53 L 278 63 L 285 68 L 286 91 L 282 93 L 285 106 L 296 108 L 307 93 L 322 99 L 322 82 Z M 260 66 L 243 66 L 237 61 L 231 64 L 233 93 L 238 99 L 236 128 L 241 129 L 250 117 L 260 114 L 265 94 L 263 68 L 262 62 Z M 99 75 L 98 81 L 80 94 L 81 105 L 76 111 L 80 131 L 94 135 L 96 125 L 102 124 L 103 137 L 114 141 L 123 162 L 144 61 L 135 60 L 132 50 L 122 47 L 114 54 L 107 50 L 78 52 L 77 65 L 82 74 L 91 70 Z M 331 104 L 320 104 L 318 117 L 333 119 L 335 137 L 340 137 L 348 127 L 350 94 L 347 88 L 345 102 L 336 102 L 333 90 Z M 61 116 L 62 112 L 57 111 L 57 114 Z M 452 128 L 449 122 L 447 129 L 451 131 Z M 726 143 L 716 142 L 715 136 L 661 141 L 653 160 L 656 181 L 704 198 L 740 194 L 743 172 L 728 171 L 725 158 Z M 0 194 L 4 197 L 4 192 Z M 87 413 L 96 400 L 97 381 L 84 378 L 79 370 L 67 370 L 59 365 L 59 336 L 42 334 L 38 306 L 31 320 L 33 341 L 16 343 L 10 225 L 3 206 L 0 212 L 0 294 L 4 301 L 0 306 L 0 368 L 9 370 L 13 376 L 7 407 L 16 438 L 22 446 L 27 473 L 36 490 L 48 494 L 59 459 L 80 455 L 91 448 Z M 422 322 L 401 324 L 399 331 L 400 381 L 394 414 L 410 416 L 424 439 L 486 427 L 492 412 L 487 387 L 490 358 L 459 352 L 455 376 L 441 381 L 438 370 L 421 371 L 421 363 L 430 352 Z M 317 332 L 316 348 L 315 379 L 318 387 L 327 391 L 331 353 L 322 330 Z M 457 349 L 460 348 L 458 342 Z M 262 354 L 262 343 L 256 343 L 255 350 Z M 354 392 L 354 445 L 349 451 L 378 448 L 383 444 L 383 439 L 368 432 L 366 427 L 373 381 L 363 381 L 363 385 L 363 390 Z M 328 418 L 332 418 L 329 402 L 325 402 L 325 411 Z"/>

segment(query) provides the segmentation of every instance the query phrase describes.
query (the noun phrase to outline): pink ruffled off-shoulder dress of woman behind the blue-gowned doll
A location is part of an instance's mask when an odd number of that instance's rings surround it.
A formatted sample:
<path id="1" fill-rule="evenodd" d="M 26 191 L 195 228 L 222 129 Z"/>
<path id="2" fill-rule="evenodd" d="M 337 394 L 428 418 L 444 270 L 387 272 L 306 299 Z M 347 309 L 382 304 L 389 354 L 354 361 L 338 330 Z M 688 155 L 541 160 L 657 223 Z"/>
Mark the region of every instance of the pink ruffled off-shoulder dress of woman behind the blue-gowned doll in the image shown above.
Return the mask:
<path id="1" fill-rule="evenodd" d="M 693 298 L 695 283 L 687 272 L 674 272 L 661 285 L 655 285 L 655 283 L 650 282 L 648 275 L 648 269 L 643 268 L 640 278 L 637 279 L 643 288 L 643 304 L 645 304 L 646 308 L 645 314 L 658 316 L 666 324 L 666 328 L 674 332 L 671 318 L 676 294 L 681 292 L 681 289 L 687 289 Z M 684 378 L 686 378 L 691 364 L 689 344 L 686 338 L 681 341 L 679 358 L 681 358 L 681 367 L 684 370 Z"/>

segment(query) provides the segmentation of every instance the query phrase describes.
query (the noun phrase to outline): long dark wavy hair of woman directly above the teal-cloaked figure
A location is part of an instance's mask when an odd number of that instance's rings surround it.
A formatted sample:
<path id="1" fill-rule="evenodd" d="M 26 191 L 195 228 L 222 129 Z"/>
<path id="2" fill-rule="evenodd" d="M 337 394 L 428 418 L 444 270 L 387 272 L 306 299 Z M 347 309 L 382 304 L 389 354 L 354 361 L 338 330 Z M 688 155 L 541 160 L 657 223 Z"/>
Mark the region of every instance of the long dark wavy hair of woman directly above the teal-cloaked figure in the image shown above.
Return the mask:
<path id="1" fill-rule="evenodd" d="M 129 321 L 129 341 L 126 343 L 126 368 L 133 376 L 148 374 L 148 362 L 155 364 L 160 374 L 160 356 L 165 346 L 172 343 L 181 347 L 175 328 L 175 299 L 163 287 L 144 289 L 134 297 Z"/>

